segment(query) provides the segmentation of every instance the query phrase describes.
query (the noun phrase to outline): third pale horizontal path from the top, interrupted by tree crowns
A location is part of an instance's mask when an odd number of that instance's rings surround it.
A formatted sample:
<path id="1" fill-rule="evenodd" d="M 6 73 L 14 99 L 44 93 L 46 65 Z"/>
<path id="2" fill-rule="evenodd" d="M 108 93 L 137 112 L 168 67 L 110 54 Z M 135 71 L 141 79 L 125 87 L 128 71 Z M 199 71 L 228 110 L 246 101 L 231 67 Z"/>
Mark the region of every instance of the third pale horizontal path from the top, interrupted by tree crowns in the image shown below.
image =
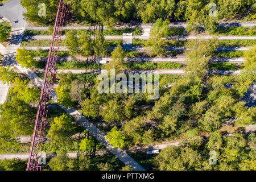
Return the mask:
<path id="1" fill-rule="evenodd" d="M 43 47 L 24 47 L 27 50 L 36 50 L 38 48 L 42 50 L 48 50 L 49 46 L 43 46 Z M 165 47 L 167 51 L 184 51 L 185 47 L 183 46 L 171 46 L 171 47 Z M 251 47 L 218 47 L 216 51 L 248 51 Z M 113 50 L 114 47 L 110 47 L 110 50 Z M 123 50 L 126 51 L 145 51 L 145 49 L 142 46 L 134 46 L 134 47 L 122 47 Z M 68 48 L 65 46 L 60 46 L 60 51 L 68 51 Z M 13 50 L 14 51 L 14 50 Z"/>

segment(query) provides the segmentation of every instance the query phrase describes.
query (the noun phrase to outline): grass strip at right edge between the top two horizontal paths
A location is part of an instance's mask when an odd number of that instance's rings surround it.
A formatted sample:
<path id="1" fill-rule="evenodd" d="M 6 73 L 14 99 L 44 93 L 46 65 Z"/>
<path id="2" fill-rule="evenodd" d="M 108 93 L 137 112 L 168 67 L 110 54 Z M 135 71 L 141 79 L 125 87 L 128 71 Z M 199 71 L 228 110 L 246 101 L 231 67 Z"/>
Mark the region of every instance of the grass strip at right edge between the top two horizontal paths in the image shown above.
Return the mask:
<path id="1" fill-rule="evenodd" d="M 228 28 L 217 28 L 214 32 L 216 35 L 237 35 L 237 36 L 255 36 L 254 27 L 228 27 Z"/>

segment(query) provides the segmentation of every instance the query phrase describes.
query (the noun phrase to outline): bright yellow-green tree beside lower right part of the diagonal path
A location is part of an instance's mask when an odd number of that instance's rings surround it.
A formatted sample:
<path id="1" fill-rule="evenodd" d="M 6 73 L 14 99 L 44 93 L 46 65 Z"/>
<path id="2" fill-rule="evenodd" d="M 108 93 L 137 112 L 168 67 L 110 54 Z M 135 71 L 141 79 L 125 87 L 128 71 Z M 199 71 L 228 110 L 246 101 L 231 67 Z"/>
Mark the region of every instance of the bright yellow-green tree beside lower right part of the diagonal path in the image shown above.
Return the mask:
<path id="1" fill-rule="evenodd" d="M 106 138 L 114 148 L 125 147 L 125 135 L 116 126 L 106 135 Z"/>

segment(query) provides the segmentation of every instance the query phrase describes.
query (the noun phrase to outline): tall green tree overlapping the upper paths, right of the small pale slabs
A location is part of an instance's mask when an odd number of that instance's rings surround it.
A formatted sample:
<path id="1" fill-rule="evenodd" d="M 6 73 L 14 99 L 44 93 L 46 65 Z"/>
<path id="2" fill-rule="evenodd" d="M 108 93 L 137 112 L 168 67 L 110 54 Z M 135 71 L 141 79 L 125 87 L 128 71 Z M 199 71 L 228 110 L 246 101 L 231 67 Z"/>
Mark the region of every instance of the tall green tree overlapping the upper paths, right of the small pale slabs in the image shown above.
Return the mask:
<path id="1" fill-rule="evenodd" d="M 157 19 L 151 32 L 150 38 L 145 42 L 145 47 L 150 56 L 162 56 L 166 52 L 163 38 L 167 36 L 169 21 Z"/>

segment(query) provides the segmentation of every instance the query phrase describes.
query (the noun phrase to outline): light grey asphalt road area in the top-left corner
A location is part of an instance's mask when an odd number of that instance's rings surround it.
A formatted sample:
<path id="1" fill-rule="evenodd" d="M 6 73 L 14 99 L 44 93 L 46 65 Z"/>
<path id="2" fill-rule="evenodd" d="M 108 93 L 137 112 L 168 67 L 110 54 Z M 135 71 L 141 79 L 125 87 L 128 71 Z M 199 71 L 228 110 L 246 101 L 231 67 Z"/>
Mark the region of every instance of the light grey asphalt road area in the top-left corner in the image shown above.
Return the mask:
<path id="1" fill-rule="evenodd" d="M 20 5 L 20 0 L 9 0 L 0 6 L 0 16 L 7 18 L 13 28 L 24 27 L 25 20 L 22 13 L 24 9 Z"/>

